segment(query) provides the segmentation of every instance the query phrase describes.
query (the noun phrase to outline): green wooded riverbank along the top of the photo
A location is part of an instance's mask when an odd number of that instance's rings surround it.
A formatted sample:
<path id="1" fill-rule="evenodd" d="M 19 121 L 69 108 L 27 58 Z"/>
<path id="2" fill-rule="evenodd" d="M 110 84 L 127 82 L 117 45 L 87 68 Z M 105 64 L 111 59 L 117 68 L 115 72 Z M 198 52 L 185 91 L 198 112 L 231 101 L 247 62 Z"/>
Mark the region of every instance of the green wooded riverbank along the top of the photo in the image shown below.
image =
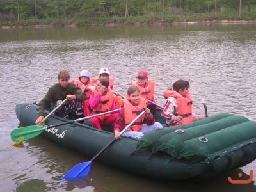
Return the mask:
<path id="1" fill-rule="evenodd" d="M 0 0 L 0 26 L 256 22 L 256 0 Z"/>

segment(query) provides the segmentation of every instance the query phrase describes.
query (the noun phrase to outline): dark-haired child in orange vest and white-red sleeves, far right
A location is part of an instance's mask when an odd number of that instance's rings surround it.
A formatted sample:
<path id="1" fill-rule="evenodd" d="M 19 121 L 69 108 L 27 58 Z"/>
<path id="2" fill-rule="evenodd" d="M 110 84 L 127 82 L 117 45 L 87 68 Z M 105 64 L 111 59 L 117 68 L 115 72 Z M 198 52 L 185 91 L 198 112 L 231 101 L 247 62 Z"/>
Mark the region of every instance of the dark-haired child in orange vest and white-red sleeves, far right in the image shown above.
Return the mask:
<path id="1" fill-rule="evenodd" d="M 168 127 L 188 124 L 205 118 L 205 116 L 192 112 L 192 100 L 188 90 L 188 81 L 178 80 L 172 86 L 173 90 L 168 89 L 163 92 L 164 98 L 167 100 L 161 115 L 166 119 Z"/>

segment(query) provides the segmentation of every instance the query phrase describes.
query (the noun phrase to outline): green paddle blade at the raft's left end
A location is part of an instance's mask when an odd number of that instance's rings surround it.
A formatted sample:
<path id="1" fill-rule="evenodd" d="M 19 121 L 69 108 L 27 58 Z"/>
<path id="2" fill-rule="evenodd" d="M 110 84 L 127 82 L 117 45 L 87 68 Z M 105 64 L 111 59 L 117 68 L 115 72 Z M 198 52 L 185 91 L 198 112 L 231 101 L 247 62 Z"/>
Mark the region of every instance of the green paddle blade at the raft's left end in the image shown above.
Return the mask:
<path id="1" fill-rule="evenodd" d="M 14 142 L 28 140 L 34 138 L 35 136 L 38 136 L 38 134 L 43 132 L 45 129 L 47 129 L 47 127 L 40 127 L 36 125 L 13 129 L 13 131 L 11 132 L 11 138 Z"/>

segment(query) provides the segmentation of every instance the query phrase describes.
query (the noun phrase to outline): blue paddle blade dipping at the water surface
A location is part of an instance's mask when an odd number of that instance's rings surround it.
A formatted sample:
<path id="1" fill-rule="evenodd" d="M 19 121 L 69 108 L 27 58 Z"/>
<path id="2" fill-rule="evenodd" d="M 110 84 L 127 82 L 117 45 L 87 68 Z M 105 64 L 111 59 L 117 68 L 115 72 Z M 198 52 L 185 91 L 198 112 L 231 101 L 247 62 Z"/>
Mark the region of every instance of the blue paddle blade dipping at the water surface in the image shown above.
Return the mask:
<path id="1" fill-rule="evenodd" d="M 79 163 L 74 166 L 69 172 L 62 177 L 62 179 L 73 179 L 75 177 L 85 177 L 90 172 L 92 161 Z"/>

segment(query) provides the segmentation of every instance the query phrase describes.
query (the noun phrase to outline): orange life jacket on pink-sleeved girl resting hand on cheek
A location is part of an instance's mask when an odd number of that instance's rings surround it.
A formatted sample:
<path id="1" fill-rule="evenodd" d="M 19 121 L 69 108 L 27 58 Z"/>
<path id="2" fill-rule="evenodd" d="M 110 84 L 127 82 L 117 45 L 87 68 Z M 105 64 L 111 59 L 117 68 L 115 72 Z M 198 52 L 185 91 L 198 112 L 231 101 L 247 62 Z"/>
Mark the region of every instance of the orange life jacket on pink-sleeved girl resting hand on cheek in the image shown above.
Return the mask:
<path id="1" fill-rule="evenodd" d="M 93 90 L 92 94 L 97 95 L 99 93 L 96 90 Z M 114 93 L 112 90 L 108 89 L 106 92 L 106 95 L 100 96 L 99 103 L 97 104 L 96 108 L 93 109 L 93 113 L 98 114 L 106 111 L 111 111 L 113 100 L 114 100 Z M 99 120 L 104 120 L 109 115 L 111 114 L 108 113 L 106 115 L 100 115 L 100 116 L 97 116 L 97 118 L 99 118 Z"/>

